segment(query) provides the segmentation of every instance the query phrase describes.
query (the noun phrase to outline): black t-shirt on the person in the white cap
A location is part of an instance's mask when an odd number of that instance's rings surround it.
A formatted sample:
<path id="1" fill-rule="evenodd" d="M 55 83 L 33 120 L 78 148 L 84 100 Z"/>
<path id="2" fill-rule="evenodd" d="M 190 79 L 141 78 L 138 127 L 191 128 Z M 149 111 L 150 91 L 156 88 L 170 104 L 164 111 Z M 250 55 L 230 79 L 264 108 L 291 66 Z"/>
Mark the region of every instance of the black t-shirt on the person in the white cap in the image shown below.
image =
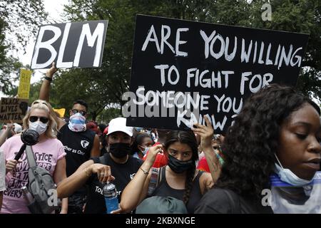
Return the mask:
<path id="1" fill-rule="evenodd" d="M 121 192 L 123 192 L 126 185 L 133 179 L 143 161 L 136 157 L 129 156 L 126 163 L 118 164 L 113 161 L 109 153 L 103 155 L 103 157 L 106 161 L 106 164 L 104 165 L 109 165 L 111 167 L 111 175 L 115 177 L 113 185 L 116 186 L 118 192 L 118 202 L 121 202 Z M 95 163 L 101 163 L 98 157 L 93 157 L 92 160 Z M 106 204 L 103 197 L 103 184 L 98 181 L 96 173 L 91 175 L 86 184 L 88 185 L 88 196 L 85 213 L 106 213 Z"/>

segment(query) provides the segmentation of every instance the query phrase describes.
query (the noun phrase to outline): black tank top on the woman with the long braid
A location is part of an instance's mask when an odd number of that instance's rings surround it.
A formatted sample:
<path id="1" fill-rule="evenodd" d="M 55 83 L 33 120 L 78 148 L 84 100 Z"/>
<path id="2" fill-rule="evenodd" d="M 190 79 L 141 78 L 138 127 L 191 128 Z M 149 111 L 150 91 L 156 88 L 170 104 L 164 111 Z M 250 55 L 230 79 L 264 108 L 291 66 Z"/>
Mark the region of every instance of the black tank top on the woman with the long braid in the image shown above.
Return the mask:
<path id="1" fill-rule="evenodd" d="M 161 197 L 175 197 L 176 199 L 180 199 L 183 201 L 183 195 L 185 190 L 175 190 L 168 185 L 165 176 L 165 167 L 161 167 L 161 182 L 158 183 L 155 191 L 152 196 L 161 196 Z M 200 192 L 200 176 L 203 175 L 203 171 L 199 171 L 198 175 L 193 180 L 193 185 L 190 191 L 190 198 L 188 200 L 188 204 L 186 209 L 189 214 L 194 213 L 194 209 L 198 202 L 200 202 L 200 198 L 203 197 Z"/>

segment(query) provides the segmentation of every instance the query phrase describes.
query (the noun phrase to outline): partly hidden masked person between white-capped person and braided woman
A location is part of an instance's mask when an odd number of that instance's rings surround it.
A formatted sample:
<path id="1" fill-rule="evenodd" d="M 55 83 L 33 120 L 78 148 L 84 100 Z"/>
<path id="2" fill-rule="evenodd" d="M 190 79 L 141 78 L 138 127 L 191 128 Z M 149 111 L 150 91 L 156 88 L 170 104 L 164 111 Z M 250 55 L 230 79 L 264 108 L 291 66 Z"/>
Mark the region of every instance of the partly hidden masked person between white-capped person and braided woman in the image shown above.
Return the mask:
<path id="1" fill-rule="evenodd" d="M 133 157 L 142 160 L 144 155 L 146 155 L 146 152 L 149 150 L 149 147 L 151 147 L 153 144 L 154 142 L 151 139 L 151 136 L 146 133 L 138 133 L 133 142 L 131 154 Z"/>

